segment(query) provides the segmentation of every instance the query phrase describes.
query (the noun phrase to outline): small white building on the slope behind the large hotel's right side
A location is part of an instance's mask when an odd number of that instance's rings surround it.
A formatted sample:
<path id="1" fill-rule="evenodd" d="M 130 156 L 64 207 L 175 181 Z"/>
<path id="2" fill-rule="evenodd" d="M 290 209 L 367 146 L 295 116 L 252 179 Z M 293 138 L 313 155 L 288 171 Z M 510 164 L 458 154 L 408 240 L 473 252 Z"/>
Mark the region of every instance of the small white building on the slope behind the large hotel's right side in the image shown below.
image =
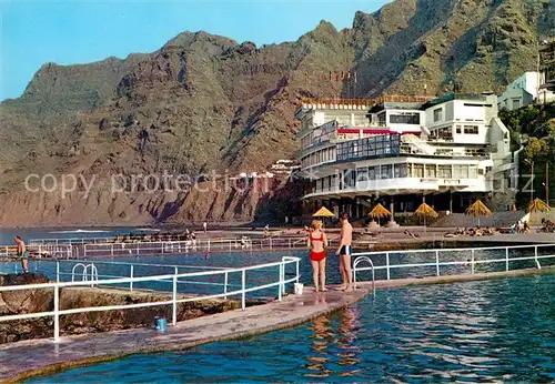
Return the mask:
<path id="1" fill-rule="evenodd" d="M 514 111 L 533 102 L 554 101 L 555 93 L 543 88 L 544 83 L 545 73 L 525 72 L 497 98 L 497 108 Z"/>

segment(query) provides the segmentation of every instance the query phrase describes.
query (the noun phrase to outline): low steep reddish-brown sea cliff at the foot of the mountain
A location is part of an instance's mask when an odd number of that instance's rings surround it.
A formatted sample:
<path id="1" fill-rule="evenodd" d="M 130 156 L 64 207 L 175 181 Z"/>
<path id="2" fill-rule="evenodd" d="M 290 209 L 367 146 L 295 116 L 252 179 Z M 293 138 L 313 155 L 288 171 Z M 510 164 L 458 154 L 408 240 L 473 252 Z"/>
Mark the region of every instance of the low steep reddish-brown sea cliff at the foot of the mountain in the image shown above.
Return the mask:
<path id="1" fill-rule="evenodd" d="M 250 185 L 199 184 L 188 192 L 117 192 L 99 185 L 74 191 L 0 193 L 0 226 L 144 225 L 188 221 L 283 222 L 295 215 L 302 183 L 270 180 Z"/>

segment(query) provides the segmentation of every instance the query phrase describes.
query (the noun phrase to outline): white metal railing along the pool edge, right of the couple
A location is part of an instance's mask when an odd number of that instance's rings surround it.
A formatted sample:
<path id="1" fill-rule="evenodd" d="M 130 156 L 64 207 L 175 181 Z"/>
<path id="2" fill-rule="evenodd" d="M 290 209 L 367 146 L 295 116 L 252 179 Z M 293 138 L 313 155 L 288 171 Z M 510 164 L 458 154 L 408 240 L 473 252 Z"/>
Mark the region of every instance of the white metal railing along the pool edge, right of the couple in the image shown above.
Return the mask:
<path id="1" fill-rule="evenodd" d="M 539 254 L 539 249 L 553 249 L 552 254 Z M 528 250 L 534 252 L 529 256 L 511 256 L 511 251 L 523 251 Z M 494 259 L 476 260 L 476 255 L 482 252 L 503 252 L 503 257 L 494 255 Z M 446 259 L 446 254 L 456 252 L 458 259 L 463 257 L 462 261 L 443 260 Z M 414 256 L 414 255 L 433 255 L 433 262 L 412 262 L 406 264 L 391 264 L 391 256 L 393 254 Z M 471 273 L 475 273 L 476 264 L 488 264 L 488 263 L 504 263 L 505 271 L 509 271 L 509 263 L 517 261 L 534 261 L 538 270 L 542 269 L 541 260 L 553 259 L 555 260 L 555 244 L 536 244 L 536 245 L 513 245 L 513 246 L 488 246 L 488 247 L 466 247 L 466 249 L 436 249 L 436 250 L 406 250 L 406 251 L 390 251 L 390 252 L 362 252 L 353 253 L 355 260 L 353 262 L 353 281 L 356 281 L 357 272 L 372 271 L 372 279 L 374 279 L 374 271 L 386 271 L 386 279 L 391 280 L 391 271 L 400 269 L 411 269 L 411 267 L 435 267 L 435 275 L 441 275 L 441 267 L 444 266 L 456 266 L 464 265 L 471 267 Z M 383 265 L 375 265 L 371 257 L 380 257 L 384 262 Z M 371 266 L 360 267 L 359 264 L 363 261 L 370 261 Z"/>

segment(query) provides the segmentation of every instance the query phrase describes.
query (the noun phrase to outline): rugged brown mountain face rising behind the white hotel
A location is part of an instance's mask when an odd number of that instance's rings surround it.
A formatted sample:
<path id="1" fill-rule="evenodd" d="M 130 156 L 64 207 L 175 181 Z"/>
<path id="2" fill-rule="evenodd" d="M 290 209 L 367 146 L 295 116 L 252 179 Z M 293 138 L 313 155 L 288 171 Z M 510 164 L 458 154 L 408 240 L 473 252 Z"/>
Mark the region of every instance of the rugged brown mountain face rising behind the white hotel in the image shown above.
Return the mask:
<path id="1" fill-rule="evenodd" d="M 79 199 L 69 208 L 54 196 L 22 193 L 22 181 L 29 173 L 107 179 L 261 171 L 294 153 L 293 113 L 302 98 L 442 95 L 455 81 L 462 92 L 500 91 L 535 69 L 538 39 L 555 34 L 554 10 L 555 0 L 396 0 L 372 14 L 357 12 L 351 29 L 322 21 L 295 42 L 259 48 L 185 32 L 125 60 L 46 64 L 21 98 L 0 104 L 0 192 L 9 192 L 0 194 L 0 224 L 14 216 L 21 224 L 37 218 L 60 224 L 250 220 L 260 212 L 260 195 L 240 199 L 236 208 L 228 203 L 231 192 L 199 195 L 194 204 L 191 194 L 98 192 L 92 210 Z M 335 71 L 356 72 L 356 82 L 330 81 Z M 142 128 L 150 132 L 143 152 Z M 121 209 L 111 209 L 112 199 Z M 210 208 L 196 210 L 196 201 Z M 37 212 L 16 215 L 13 204 Z M 173 214 L 160 215 L 168 205 Z"/>

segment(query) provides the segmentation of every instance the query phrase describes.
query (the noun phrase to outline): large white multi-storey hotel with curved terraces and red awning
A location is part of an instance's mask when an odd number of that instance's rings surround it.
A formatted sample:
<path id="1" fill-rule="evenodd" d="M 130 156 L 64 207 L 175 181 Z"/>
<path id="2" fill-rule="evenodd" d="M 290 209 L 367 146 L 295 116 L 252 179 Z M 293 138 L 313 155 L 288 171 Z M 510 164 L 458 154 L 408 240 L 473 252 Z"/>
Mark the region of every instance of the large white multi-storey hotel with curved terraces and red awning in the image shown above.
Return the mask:
<path id="1" fill-rule="evenodd" d="M 516 179 L 495 95 L 307 100 L 295 118 L 311 209 L 364 218 L 376 201 L 413 212 L 425 196 L 437 211 L 462 212 L 502 178 Z"/>

